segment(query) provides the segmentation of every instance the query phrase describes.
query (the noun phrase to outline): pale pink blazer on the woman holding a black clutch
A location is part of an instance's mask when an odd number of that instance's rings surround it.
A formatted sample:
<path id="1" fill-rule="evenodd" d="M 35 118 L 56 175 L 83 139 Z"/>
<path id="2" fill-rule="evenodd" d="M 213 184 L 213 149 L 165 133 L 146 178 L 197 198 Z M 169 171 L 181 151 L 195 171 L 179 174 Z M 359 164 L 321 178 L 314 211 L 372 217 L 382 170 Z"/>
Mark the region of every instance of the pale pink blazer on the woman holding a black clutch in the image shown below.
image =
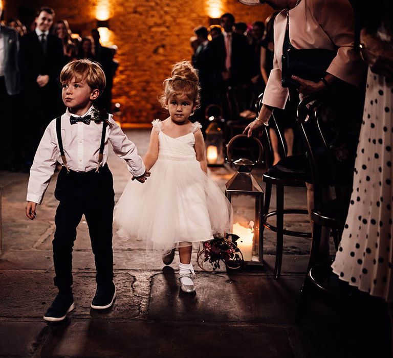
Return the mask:
<path id="1" fill-rule="evenodd" d="M 337 50 L 327 72 L 359 85 L 365 65 L 354 50 L 354 13 L 348 0 L 301 0 L 289 11 L 289 37 L 297 49 Z M 288 88 L 281 87 L 281 55 L 287 26 L 287 10 L 274 21 L 274 59 L 263 103 L 284 108 Z"/>

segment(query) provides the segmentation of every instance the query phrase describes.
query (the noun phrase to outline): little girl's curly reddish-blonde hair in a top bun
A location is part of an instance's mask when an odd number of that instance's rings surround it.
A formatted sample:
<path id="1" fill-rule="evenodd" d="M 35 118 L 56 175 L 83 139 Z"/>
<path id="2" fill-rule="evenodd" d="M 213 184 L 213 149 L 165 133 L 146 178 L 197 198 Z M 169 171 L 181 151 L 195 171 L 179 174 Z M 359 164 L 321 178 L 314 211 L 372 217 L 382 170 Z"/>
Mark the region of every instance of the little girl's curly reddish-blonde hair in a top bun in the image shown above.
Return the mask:
<path id="1" fill-rule="evenodd" d="M 189 61 L 177 62 L 172 67 L 171 76 L 163 82 L 164 91 L 159 98 L 163 108 L 168 109 L 168 100 L 177 96 L 186 95 L 195 108 L 201 105 L 199 94 L 198 71 L 192 67 Z"/>

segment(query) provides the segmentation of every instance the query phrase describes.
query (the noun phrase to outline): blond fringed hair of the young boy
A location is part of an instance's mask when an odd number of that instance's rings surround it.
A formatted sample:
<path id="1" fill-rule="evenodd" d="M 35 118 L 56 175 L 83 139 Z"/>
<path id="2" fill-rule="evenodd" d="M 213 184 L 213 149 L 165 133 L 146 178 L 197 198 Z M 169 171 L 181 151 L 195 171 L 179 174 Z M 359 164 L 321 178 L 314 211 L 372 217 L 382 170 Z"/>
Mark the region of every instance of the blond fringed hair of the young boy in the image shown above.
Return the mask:
<path id="1" fill-rule="evenodd" d="M 74 76 L 77 81 L 86 79 L 90 88 L 98 88 L 101 96 L 106 85 L 106 78 L 97 62 L 83 58 L 67 63 L 61 70 L 60 82 L 69 82 Z"/>

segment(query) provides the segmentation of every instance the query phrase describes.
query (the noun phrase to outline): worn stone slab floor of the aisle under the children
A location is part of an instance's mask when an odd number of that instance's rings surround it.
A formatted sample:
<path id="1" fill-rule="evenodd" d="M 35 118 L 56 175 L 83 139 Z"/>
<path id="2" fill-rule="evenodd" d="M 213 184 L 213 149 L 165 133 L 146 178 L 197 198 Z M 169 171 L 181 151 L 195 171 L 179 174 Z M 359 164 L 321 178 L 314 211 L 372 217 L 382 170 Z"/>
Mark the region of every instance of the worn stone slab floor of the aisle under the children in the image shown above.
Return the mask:
<path id="1" fill-rule="evenodd" d="M 147 150 L 148 131 L 127 135 L 141 154 Z M 129 174 L 113 153 L 109 165 L 118 199 Z M 230 167 L 209 173 L 223 190 L 232 174 Z M 260 181 L 261 170 L 255 176 Z M 195 296 L 179 290 L 177 257 L 163 267 L 160 255 L 146 252 L 143 242 L 122 241 L 115 233 L 118 297 L 112 308 L 97 312 L 90 309 L 94 259 L 82 220 L 73 255 L 76 308 L 64 322 L 47 324 L 42 314 L 56 294 L 51 251 L 55 178 L 34 221 L 24 213 L 27 181 L 28 174 L 0 172 L 2 357 L 390 357 L 383 302 L 358 292 L 340 301 L 315 293 L 300 310 L 309 239 L 285 238 L 282 275 L 274 280 L 275 241 L 269 231 L 265 265 L 258 270 L 206 273 L 193 262 Z M 305 208 L 305 190 L 288 190 L 286 206 Z M 307 230 L 307 217 L 288 216 L 286 225 Z"/>

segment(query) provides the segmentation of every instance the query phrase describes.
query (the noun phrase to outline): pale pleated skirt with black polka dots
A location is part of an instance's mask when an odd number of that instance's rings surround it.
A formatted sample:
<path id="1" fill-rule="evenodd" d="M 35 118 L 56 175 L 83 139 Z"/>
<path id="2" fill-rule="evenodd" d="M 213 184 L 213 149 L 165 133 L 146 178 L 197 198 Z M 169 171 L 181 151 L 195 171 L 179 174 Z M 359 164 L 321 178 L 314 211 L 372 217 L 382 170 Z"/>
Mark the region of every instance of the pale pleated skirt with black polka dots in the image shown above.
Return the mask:
<path id="1" fill-rule="evenodd" d="M 393 86 L 368 70 L 351 205 L 333 272 L 370 295 L 393 301 Z"/>

